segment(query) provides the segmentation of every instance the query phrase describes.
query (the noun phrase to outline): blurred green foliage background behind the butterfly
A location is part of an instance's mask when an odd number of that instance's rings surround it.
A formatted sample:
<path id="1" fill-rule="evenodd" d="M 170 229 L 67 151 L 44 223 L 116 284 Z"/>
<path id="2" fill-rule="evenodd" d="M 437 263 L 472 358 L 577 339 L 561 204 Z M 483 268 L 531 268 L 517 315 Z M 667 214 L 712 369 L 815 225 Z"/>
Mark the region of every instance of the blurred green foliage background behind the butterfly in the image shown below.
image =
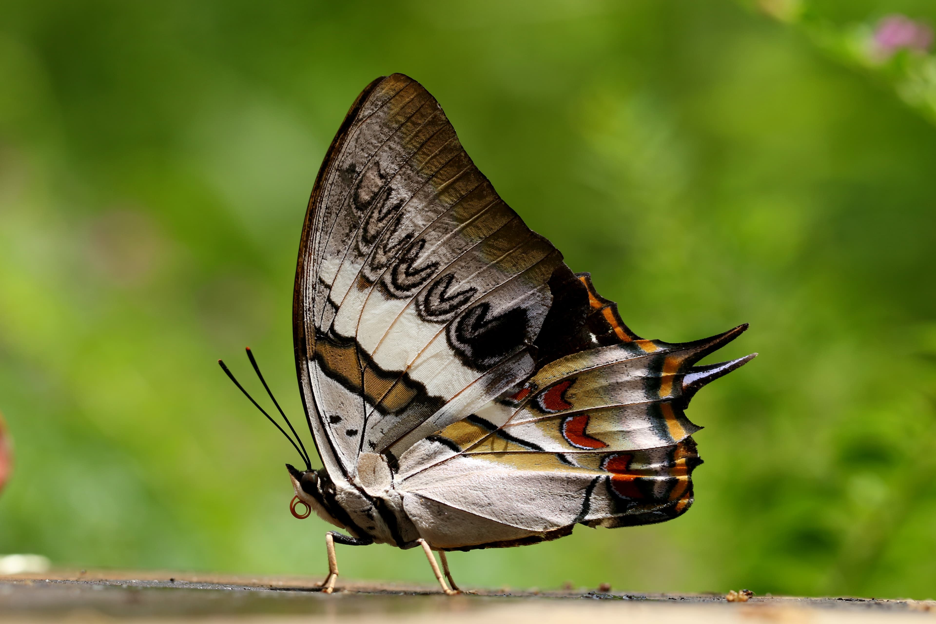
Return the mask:
<path id="1" fill-rule="evenodd" d="M 693 401 L 687 515 L 455 553 L 461 583 L 936 598 L 936 62 L 862 47 L 892 12 L 936 19 L 930 0 L 7 0 L 0 552 L 326 571 L 326 526 L 287 509 L 295 452 L 215 360 L 257 391 L 251 345 L 300 418 L 306 201 L 360 89 L 400 71 L 638 334 L 749 322 L 719 356 L 761 354 Z M 431 581 L 415 551 L 339 548 L 347 577 Z"/>

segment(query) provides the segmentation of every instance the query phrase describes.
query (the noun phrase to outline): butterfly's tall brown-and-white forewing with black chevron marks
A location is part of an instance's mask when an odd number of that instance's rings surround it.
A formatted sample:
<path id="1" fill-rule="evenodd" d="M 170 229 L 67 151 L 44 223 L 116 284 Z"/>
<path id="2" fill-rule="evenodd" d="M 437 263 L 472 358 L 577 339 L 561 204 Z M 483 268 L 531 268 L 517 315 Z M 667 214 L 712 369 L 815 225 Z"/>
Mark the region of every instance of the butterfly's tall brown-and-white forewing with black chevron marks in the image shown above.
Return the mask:
<path id="1" fill-rule="evenodd" d="M 296 322 L 310 413 L 353 473 L 361 452 L 444 428 L 533 373 L 562 256 L 416 81 L 372 85 L 343 131 L 306 217 Z"/>

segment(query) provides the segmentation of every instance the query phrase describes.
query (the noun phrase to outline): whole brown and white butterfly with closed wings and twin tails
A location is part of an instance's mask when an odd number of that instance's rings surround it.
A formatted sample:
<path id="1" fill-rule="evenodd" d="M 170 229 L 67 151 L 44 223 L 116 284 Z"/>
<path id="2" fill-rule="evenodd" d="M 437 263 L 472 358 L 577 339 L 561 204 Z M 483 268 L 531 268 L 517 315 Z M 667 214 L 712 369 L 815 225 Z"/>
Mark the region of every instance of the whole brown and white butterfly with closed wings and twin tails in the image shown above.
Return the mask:
<path id="1" fill-rule="evenodd" d="M 446 551 L 685 513 L 701 459 L 684 411 L 756 355 L 695 365 L 747 325 L 693 342 L 637 336 L 402 74 L 358 95 L 318 172 L 293 328 L 323 468 L 286 419 L 305 463 L 286 465 L 291 509 L 347 532 L 326 535 L 326 592 L 336 543 L 420 546 L 455 593 Z"/>

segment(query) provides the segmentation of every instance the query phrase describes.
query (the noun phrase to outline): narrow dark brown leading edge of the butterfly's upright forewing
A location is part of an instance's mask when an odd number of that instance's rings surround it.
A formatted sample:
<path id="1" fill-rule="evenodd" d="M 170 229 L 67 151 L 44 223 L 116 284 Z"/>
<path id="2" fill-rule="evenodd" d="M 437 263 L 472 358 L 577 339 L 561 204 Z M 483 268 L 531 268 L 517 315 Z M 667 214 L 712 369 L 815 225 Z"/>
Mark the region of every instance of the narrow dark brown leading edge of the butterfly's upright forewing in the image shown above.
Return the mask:
<path id="1" fill-rule="evenodd" d="M 307 279 L 309 276 L 308 263 L 313 260 L 312 254 L 309 251 L 309 244 L 313 236 L 313 227 L 315 224 L 315 206 L 318 204 L 318 197 L 322 193 L 323 181 L 326 174 L 329 172 L 330 165 L 334 159 L 335 154 L 341 152 L 344 141 L 347 138 L 348 130 L 354 124 L 355 120 L 358 118 L 358 112 L 360 112 L 361 106 L 364 102 L 367 101 L 367 98 L 373 93 L 373 90 L 385 80 L 386 76 L 381 76 L 378 79 L 373 80 L 368 84 L 363 91 L 358 94 L 358 98 L 355 99 L 354 104 L 351 105 L 351 109 L 348 110 L 347 114 L 344 116 L 344 121 L 341 126 L 338 128 L 338 132 L 335 134 L 335 138 L 331 139 L 331 145 L 329 145 L 328 152 L 325 152 L 325 158 L 322 161 L 322 166 L 318 169 L 318 175 L 315 176 L 315 183 L 312 187 L 312 195 L 309 197 L 309 205 L 306 208 L 305 221 L 302 224 L 302 235 L 300 237 L 299 244 L 299 260 L 296 265 L 296 281 L 293 284 L 293 351 L 296 356 L 296 374 L 299 377 L 300 385 L 300 395 L 302 397 L 302 408 L 305 410 L 306 421 L 309 424 L 309 432 L 312 434 L 312 439 L 315 444 L 315 451 L 318 453 L 318 457 L 322 459 L 322 462 L 325 464 L 327 469 L 338 468 L 347 475 L 342 462 L 338 461 L 336 458 L 335 450 L 331 447 L 329 437 L 324 434 L 315 435 L 313 421 L 318 421 L 318 410 L 314 405 L 314 397 L 312 392 L 312 382 L 309 375 L 309 360 L 315 353 L 315 330 L 314 325 L 307 325 L 305 317 L 305 301 L 303 293 L 307 292 L 308 283 Z M 311 320 L 309 321 L 311 323 Z M 312 327 L 310 332 L 306 331 L 307 327 Z M 312 403 L 310 405 L 310 403 Z M 311 411 L 310 411 L 311 408 Z M 322 448 L 319 446 L 319 439 L 321 438 L 324 443 L 328 444 L 329 448 L 327 455 L 323 455 Z M 327 458 L 328 457 L 328 458 Z M 330 461 L 329 461 L 330 459 Z"/>

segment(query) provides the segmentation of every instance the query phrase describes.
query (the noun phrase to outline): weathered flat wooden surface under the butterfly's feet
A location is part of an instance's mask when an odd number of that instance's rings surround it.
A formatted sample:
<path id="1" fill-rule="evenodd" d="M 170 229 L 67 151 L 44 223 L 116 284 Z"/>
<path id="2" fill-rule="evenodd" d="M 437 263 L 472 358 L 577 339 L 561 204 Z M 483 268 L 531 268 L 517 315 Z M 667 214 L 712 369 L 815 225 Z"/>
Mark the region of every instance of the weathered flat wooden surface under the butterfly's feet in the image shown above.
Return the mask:
<path id="1" fill-rule="evenodd" d="M 0 621 L 7 622 L 341 622 L 566 624 L 580 622 L 936 623 L 936 602 L 872 599 L 647 595 L 578 589 L 447 597 L 437 588 L 341 579 L 332 595 L 314 578 L 192 573 L 59 572 L 0 577 Z"/>

